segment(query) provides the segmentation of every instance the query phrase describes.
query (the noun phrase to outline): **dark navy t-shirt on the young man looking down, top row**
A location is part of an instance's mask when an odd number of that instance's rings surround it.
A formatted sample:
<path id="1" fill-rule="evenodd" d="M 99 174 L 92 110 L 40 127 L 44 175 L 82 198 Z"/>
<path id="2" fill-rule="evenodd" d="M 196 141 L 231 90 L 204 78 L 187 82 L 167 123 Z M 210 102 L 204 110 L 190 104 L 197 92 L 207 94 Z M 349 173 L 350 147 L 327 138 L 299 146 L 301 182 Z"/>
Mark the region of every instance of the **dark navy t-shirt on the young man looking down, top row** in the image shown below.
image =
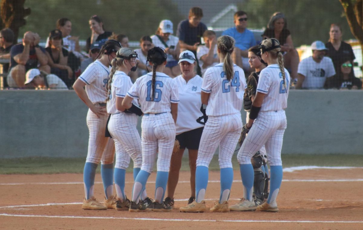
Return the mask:
<path id="1" fill-rule="evenodd" d="M 179 22 L 178 29 L 176 30 L 176 37 L 187 45 L 192 46 L 195 43 L 200 42 L 200 38 L 203 37 L 205 30 L 207 30 L 207 26 L 202 22 L 200 22 L 197 27 L 191 27 L 189 26 L 189 21 L 184 20 Z"/>

